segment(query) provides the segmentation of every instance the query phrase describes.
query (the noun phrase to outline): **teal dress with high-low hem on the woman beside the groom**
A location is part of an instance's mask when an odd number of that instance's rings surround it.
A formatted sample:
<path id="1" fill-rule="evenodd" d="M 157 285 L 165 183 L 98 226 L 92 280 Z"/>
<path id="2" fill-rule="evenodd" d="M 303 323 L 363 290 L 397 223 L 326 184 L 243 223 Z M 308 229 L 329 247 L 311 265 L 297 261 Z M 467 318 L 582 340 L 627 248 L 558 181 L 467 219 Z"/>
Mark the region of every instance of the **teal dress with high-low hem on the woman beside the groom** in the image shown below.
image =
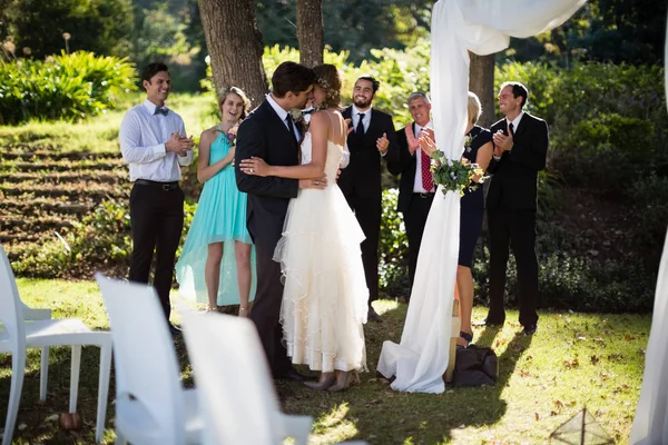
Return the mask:
<path id="1" fill-rule="evenodd" d="M 219 127 L 218 127 L 219 129 Z M 209 150 L 209 165 L 223 159 L 232 145 L 220 131 Z M 235 243 L 252 244 L 246 229 L 246 194 L 236 186 L 234 166 L 223 167 L 204 184 L 197 210 L 184 249 L 176 264 L 176 280 L 180 293 L 197 303 L 208 303 L 204 278 L 208 245 L 223 243 L 218 306 L 238 305 L 239 289 L 235 260 Z M 255 296 L 255 249 L 250 256 L 253 281 L 250 299 Z"/>

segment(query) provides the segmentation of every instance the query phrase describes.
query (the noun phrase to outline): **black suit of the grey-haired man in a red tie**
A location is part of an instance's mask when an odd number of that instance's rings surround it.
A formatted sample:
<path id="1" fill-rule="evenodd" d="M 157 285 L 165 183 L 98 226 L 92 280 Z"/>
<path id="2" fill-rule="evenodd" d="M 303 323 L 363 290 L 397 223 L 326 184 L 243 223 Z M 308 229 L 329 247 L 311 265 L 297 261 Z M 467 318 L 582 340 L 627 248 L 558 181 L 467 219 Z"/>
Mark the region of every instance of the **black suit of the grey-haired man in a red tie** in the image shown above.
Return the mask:
<path id="1" fill-rule="evenodd" d="M 415 135 L 415 122 L 411 123 L 413 135 Z M 418 266 L 418 254 L 424 234 L 424 225 L 431 209 L 434 194 L 414 194 L 415 175 L 418 172 L 418 159 L 420 151 L 411 154 L 405 128 L 396 131 L 396 144 L 399 146 L 399 157 L 395 161 L 387 162 L 387 169 L 392 175 L 401 175 L 399 182 L 399 202 L 396 209 L 403 214 L 409 236 L 409 278 L 411 287 L 415 278 L 415 268 Z"/>

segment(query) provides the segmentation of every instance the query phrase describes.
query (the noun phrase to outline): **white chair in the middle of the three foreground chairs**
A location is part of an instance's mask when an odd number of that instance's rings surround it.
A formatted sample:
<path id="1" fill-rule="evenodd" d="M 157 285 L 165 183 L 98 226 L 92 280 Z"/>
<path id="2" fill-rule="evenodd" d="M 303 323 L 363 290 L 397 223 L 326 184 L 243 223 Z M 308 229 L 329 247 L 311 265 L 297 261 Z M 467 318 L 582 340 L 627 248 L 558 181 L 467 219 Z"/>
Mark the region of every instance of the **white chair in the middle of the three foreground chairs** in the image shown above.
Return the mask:
<path id="1" fill-rule="evenodd" d="M 96 274 L 107 306 L 116 364 L 116 443 L 202 443 L 197 393 L 184 389 L 155 289 Z M 126 442 L 127 441 L 127 442 Z"/>

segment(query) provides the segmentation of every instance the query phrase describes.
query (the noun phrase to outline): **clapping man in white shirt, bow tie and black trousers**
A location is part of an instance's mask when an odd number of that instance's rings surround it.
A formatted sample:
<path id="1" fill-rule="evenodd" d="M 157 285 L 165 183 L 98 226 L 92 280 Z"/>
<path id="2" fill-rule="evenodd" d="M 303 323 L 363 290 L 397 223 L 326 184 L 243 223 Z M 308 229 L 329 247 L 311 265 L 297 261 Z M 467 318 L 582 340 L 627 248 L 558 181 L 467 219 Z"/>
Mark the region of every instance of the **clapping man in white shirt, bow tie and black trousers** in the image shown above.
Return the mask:
<path id="1" fill-rule="evenodd" d="M 171 81 L 167 66 L 148 65 L 141 71 L 146 100 L 126 112 L 120 123 L 120 152 L 130 168 L 130 224 L 132 227 L 131 281 L 147 283 L 156 254 L 154 286 L 169 322 L 169 290 L 176 249 L 184 227 L 180 166 L 193 161 L 193 137 L 184 121 L 165 107 Z M 170 330 L 179 329 L 173 325 Z"/>

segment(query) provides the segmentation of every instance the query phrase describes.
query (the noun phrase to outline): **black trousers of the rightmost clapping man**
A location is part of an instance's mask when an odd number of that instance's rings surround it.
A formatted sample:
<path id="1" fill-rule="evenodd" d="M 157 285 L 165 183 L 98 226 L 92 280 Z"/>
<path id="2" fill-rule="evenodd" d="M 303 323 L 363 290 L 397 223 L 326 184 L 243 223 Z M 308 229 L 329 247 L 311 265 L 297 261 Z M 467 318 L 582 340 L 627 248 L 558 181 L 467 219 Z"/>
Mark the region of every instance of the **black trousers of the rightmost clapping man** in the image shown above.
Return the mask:
<path id="1" fill-rule="evenodd" d="M 536 255 L 536 211 L 505 207 L 488 209 L 490 236 L 490 312 L 488 320 L 505 320 L 503 294 L 509 248 L 515 257 L 520 291 L 520 324 L 538 322 L 538 257 Z"/>

